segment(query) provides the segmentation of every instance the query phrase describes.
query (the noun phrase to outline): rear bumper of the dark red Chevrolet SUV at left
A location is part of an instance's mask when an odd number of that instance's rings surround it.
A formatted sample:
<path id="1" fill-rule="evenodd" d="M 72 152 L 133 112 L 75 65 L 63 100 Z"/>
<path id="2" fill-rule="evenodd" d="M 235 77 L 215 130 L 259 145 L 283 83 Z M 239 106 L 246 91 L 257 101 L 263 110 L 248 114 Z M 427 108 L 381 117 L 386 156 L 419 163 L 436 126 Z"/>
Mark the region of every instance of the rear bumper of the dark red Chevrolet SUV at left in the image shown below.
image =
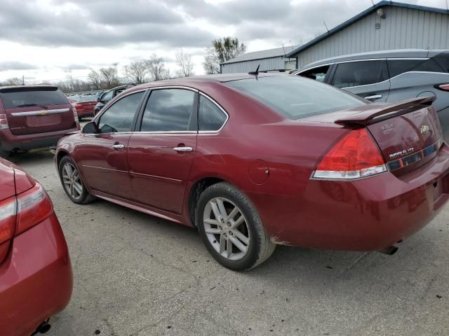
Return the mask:
<path id="1" fill-rule="evenodd" d="M 0 130 L 0 151 L 10 152 L 15 149 L 27 151 L 33 148 L 55 146 L 64 134 L 78 130 L 79 125 L 70 130 L 25 135 L 14 135 L 11 130 Z"/>

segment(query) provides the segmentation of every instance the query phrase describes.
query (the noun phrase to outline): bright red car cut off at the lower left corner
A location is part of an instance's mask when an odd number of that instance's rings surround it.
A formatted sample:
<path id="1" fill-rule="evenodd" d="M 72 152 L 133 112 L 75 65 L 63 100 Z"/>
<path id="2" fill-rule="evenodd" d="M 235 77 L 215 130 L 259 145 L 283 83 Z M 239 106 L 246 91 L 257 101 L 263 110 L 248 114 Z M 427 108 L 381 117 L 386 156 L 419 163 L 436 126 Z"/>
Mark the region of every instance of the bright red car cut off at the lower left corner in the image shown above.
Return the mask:
<path id="1" fill-rule="evenodd" d="M 72 295 L 67 244 L 50 198 L 0 159 L 0 335 L 46 332 Z"/>

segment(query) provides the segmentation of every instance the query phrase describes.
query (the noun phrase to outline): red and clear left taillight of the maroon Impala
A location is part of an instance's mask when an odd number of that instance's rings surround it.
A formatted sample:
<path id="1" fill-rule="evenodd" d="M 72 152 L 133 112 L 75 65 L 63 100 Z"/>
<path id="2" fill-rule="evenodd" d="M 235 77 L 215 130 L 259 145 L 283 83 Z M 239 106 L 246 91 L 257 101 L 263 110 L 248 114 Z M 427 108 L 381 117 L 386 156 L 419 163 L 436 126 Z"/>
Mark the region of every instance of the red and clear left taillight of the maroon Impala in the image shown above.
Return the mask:
<path id="1" fill-rule="evenodd" d="M 365 128 L 346 134 L 324 155 L 313 179 L 351 180 L 387 172 L 387 166 Z"/>

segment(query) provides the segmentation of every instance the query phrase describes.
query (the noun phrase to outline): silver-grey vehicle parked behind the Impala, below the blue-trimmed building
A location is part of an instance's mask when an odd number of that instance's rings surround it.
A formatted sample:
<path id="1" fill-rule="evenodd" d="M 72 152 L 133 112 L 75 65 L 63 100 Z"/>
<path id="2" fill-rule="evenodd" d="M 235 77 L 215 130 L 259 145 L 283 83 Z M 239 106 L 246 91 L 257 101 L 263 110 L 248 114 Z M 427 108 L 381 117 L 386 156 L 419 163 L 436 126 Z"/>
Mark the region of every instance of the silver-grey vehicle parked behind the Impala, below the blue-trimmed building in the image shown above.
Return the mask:
<path id="1" fill-rule="evenodd" d="M 347 90 L 371 102 L 436 97 L 449 141 L 449 50 L 384 50 L 314 62 L 295 74 Z"/>

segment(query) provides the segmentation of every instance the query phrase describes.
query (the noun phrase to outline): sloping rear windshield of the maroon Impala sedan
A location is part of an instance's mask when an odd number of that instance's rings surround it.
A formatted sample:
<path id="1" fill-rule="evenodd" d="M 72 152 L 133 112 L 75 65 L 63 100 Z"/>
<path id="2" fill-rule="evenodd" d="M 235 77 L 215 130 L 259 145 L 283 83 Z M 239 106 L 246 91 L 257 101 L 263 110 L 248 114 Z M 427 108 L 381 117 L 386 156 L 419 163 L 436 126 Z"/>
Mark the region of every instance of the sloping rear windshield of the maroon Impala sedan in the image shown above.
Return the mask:
<path id="1" fill-rule="evenodd" d="M 367 104 L 352 94 L 300 76 L 248 78 L 226 84 L 293 120 Z"/>

